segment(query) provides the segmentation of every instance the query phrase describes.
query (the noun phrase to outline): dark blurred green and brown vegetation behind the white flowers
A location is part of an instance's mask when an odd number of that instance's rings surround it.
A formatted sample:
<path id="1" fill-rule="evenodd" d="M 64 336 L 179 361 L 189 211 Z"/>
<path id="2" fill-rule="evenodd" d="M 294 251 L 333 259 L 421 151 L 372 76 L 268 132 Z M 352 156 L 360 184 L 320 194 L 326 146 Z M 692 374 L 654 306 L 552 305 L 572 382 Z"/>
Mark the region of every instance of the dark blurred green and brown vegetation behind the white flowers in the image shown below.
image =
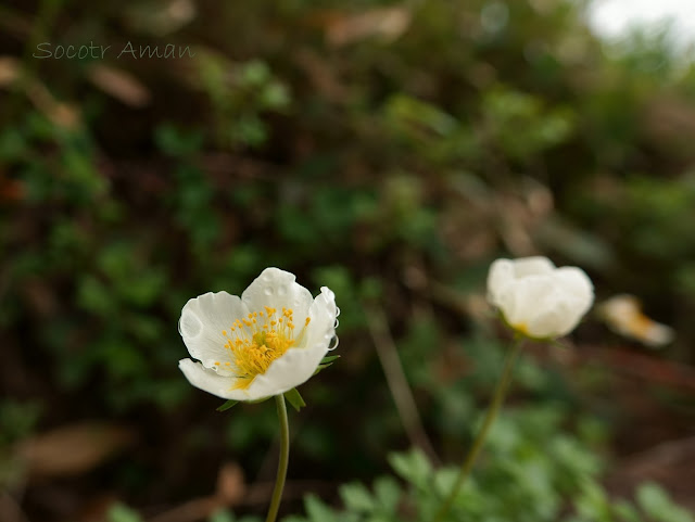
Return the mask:
<path id="1" fill-rule="evenodd" d="M 290 413 L 283 512 L 390 464 L 407 480 L 387 455 L 412 444 L 456 462 L 508 342 L 488 266 L 533 254 L 677 333 L 653 349 L 594 314 L 529 346 L 478 501 L 560 520 L 586 480 L 653 480 L 695 508 L 692 49 L 602 43 L 587 20 L 560 0 L 3 2 L 0 520 L 263 513 L 275 409 L 215 412 L 177 320 L 266 266 L 342 310 L 341 359 Z M 424 430 L 394 406 L 394 353 Z"/>

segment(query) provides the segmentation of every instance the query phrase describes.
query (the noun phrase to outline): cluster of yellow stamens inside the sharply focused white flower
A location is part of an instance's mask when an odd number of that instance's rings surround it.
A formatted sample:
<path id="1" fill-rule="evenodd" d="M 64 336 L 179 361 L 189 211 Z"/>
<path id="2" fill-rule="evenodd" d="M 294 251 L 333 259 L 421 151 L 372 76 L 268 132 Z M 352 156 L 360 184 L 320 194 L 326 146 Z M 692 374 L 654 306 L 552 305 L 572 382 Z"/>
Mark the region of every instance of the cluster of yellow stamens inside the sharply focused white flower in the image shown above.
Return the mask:
<path id="1" fill-rule="evenodd" d="M 304 326 L 309 323 L 307 317 Z M 237 382 L 232 390 L 248 389 L 253 379 L 267 371 L 270 364 L 285 355 L 294 346 L 294 321 L 292 308 L 282 308 L 280 314 L 276 308 L 265 307 L 264 311 L 252 311 L 243 319 L 237 319 L 229 332 L 224 330 L 227 340 L 225 349 L 228 351 L 229 361 L 226 367 L 235 367 Z M 216 361 L 216 366 L 222 362 Z"/>

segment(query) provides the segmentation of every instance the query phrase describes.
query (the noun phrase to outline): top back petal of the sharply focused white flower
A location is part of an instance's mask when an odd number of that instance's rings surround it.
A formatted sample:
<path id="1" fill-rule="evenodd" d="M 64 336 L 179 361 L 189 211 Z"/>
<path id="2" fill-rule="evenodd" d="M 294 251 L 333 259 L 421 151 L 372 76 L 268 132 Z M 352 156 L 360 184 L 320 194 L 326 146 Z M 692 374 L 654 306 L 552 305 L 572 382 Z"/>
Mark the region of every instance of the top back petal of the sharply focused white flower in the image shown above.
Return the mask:
<path id="1" fill-rule="evenodd" d="M 314 297 L 296 278 L 279 268 L 266 268 L 241 294 L 241 301 L 253 311 L 263 311 L 265 306 L 292 308 L 298 322 L 307 316 Z"/>

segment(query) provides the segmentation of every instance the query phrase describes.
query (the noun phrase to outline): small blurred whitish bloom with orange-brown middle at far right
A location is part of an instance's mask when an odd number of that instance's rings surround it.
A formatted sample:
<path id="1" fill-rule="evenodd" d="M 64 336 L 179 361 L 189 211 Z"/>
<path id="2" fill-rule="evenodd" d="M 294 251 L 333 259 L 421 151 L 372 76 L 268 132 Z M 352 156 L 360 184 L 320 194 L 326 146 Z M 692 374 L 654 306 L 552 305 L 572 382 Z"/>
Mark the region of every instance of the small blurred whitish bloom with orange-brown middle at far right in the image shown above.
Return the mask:
<path id="1" fill-rule="evenodd" d="M 630 294 L 614 295 L 598 306 L 598 316 L 615 332 L 658 348 L 673 341 L 673 329 L 649 319 Z"/>

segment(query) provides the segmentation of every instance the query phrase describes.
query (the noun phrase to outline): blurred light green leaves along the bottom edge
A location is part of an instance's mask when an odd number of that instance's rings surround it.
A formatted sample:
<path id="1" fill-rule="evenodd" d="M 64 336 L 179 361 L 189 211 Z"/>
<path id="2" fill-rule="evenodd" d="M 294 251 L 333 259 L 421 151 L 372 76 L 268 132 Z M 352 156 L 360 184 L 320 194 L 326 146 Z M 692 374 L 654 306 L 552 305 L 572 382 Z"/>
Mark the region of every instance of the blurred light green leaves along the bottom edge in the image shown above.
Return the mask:
<path id="1" fill-rule="evenodd" d="M 520 419 L 527 412 L 519 412 Z M 514 433 L 514 425 L 504 426 Z M 502 430 L 500 430 L 502 431 Z M 523 436 L 522 436 L 523 437 Z M 519 520 L 566 522 L 690 522 L 693 517 L 672 502 L 661 487 L 642 484 L 636 505 L 611 499 L 597 482 L 595 456 L 577 438 L 563 436 L 549 448 L 539 437 L 508 441 L 510 451 L 491 444 L 485 462 L 459 491 L 445 520 Z M 559 447 L 572 447 L 570 453 Z M 565 454 L 565 455 L 563 455 Z M 570 456 L 571 455 L 571 456 Z M 559 457 L 559 466 L 555 459 Z M 305 498 L 306 517 L 292 515 L 283 522 L 397 522 L 432 520 L 451 491 L 457 470 L 434 469 L 420 451 L 393 454 L 393 471 L 403 482 L 386 475 L 371 488 L 350 483 L 339 488 L 342 509 L 330 507 L 316 496 Z M 592 464 L 592 462 L 594 462 Z M 563 515 L 567 502 L 573 512 Z"/>

